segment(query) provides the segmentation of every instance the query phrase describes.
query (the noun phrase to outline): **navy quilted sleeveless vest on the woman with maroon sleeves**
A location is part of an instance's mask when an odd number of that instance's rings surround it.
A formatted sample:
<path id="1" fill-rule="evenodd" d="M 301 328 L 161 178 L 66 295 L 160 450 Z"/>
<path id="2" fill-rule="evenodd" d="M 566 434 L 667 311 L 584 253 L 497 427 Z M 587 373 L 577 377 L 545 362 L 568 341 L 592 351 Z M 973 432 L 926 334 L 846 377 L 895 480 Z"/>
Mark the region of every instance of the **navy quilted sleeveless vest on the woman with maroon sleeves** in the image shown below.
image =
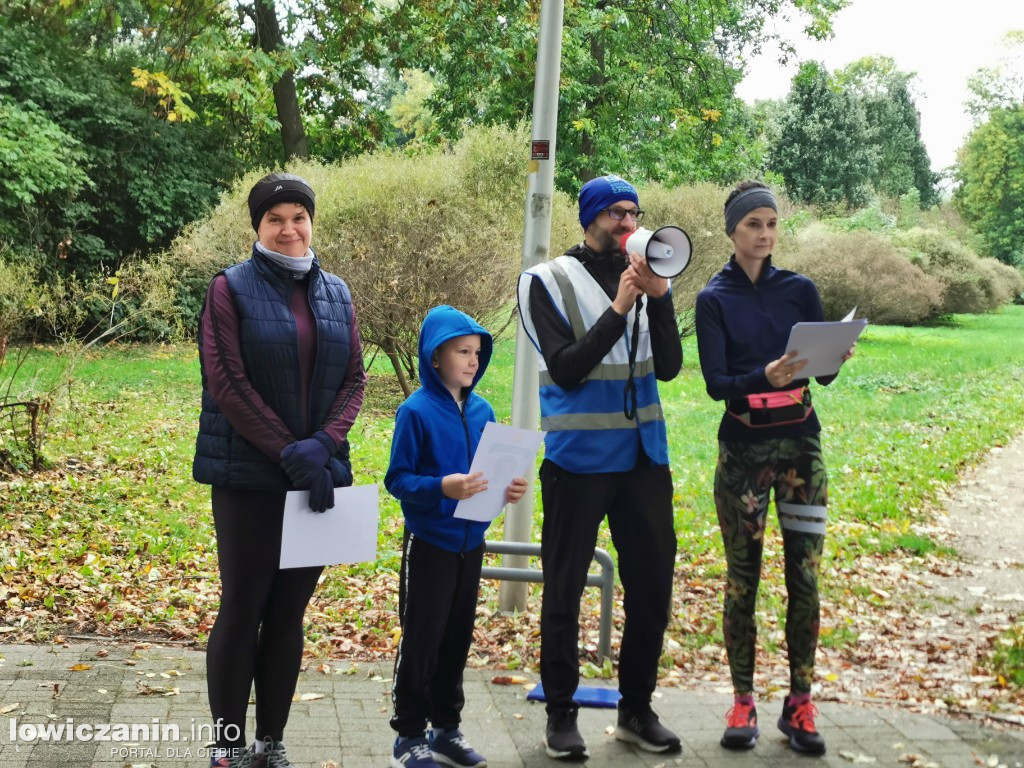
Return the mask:
<path id="1" fill-rule="evenodd" d="M 329 413 L 348 371 L 351 296 L 341 278 L 309 271 L 309 306 L 316 321 L 316 358 L 309 382 L 309 412 L 300 413 L 297 331 L 290 296 L 294 279 L 256 251 L 249 261 L 224 269 L 238 307 L 246 376 L 296 439 L 308 437 L 336 415 Z M 205 309 L 205 307 L 204 307 Z M 200 333 L 200 361 L 203 359 Z M 328 462 L 335 486 L 350 485 L 348 443 Z M 239 490 L 293 490 L 285 471 L 234 431 L 207 388 L 196 438 L 193 477 L 198 482 Z"/>

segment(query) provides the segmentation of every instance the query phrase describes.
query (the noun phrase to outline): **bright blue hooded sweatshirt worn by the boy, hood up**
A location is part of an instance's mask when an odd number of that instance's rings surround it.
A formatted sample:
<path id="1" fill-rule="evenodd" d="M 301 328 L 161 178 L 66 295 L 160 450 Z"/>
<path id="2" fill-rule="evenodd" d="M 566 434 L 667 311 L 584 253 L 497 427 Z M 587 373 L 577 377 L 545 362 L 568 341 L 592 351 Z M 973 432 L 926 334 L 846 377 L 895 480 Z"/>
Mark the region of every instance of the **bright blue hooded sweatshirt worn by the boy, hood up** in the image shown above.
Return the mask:
<path id="1" fill-rule="evenodd" d="M 480 359 L 473 384 L 464 389 L 460 411 L 432 365 L 434 351 L 458 336 L 480 335 Z M 401 503 L 410 532 L 449 552 L 480 546 L 489 523 L 453 517 L 458 502 L 441 493 L 441 478 L 468 473 L 483 427 L 495 411 L 473 392 L 487 370 L 492 339 L 468 314 L 446 305 L 427 312 L 420 329 L 420 388 L 394 417 L 391 463 L 384 485 Z"/>

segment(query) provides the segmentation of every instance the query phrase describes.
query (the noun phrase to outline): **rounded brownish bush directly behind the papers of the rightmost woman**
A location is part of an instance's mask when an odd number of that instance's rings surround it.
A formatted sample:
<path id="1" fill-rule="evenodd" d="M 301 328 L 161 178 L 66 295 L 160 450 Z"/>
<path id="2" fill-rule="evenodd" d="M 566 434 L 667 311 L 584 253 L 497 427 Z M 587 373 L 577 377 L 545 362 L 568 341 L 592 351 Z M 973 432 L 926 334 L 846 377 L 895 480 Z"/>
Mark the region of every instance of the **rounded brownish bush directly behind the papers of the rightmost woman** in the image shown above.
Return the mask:
<path id="1" fill-rule="evenodd" d="M 942 283 L 872 232 L 809 227 L 778 265 L 814 281 L 826 319 L 856 306 L 857 315 L 871 323 L 913 325 L 936 316 L 942 306 Z"/>

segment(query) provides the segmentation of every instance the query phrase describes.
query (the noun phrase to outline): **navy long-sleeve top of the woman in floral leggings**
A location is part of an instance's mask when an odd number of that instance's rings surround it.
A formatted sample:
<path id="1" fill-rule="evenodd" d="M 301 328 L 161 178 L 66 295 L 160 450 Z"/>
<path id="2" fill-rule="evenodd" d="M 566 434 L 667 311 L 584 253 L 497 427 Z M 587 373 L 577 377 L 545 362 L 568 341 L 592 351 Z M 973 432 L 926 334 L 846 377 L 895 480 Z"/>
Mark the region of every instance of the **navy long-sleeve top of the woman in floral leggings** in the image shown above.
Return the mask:
<path id="1" fill-rule="evenodd" d="M 807 379 L 797 379 L 785 387 L 773 387 L 765 366 L 785 353 L 795 324 L 822 319 L 821 298 L 809 278 L 773 266 L 769 257 L 753 283 L 733 256 L 697 294 L 697 351 L 708 394 L 716 400 L 741 400 L 749 394 L 807 385 Z M 816 381 L 827 385 L 835 378 L 822 376 Z M 724 414 L 718 436 L 761 440 L 820 431 L 816 412 L 799 424 L 758 428 Z"/>

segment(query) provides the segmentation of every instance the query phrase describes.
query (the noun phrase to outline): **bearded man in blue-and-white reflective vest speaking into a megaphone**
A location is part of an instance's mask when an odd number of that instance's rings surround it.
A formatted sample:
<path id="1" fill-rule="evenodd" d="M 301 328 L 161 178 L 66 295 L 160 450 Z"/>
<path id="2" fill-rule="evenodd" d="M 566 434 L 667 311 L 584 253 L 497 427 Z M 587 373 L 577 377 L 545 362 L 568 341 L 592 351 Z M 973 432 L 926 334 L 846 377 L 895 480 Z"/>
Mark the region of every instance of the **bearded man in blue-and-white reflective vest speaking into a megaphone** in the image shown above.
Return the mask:
<path id="1" fill-rule="evenodd" d="M 519 278 L 520 316 L 540 353 L 541 425 L 547 431 L 541 681 L 545 746 L 558 759 L 588 757 L 573 701 L 580 600 L 605 516 L 626 609 L 615 737 L 649 752 L 680 750 L 650 702 L 676 556 L 657 381 L 676 377 L 683 352 L 669 281 L 641 253 L 621 250 L 642 217 L 631 183 L 617 176 L 592 179 L 580 190 L 584 242 Z"/>

